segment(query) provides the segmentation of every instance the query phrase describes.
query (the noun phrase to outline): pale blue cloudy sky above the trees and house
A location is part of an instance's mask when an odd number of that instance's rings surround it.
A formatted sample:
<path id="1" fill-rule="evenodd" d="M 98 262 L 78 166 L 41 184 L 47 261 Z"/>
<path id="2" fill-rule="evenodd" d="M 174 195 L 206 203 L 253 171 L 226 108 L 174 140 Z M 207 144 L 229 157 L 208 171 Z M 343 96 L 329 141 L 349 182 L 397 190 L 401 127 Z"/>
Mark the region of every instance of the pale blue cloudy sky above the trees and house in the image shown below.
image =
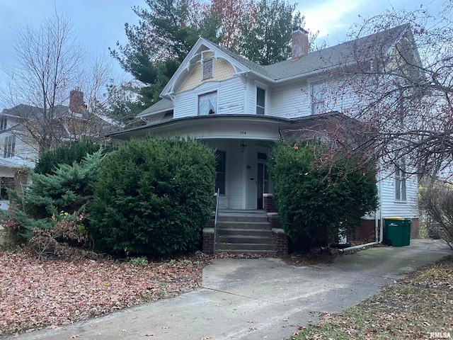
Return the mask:
<path id="1" fill-rule="evenodd" d="M 360 22 L 359 15 L 374 16 L 392 7 L 414 9 L 421 4 L 435 11 L 441 3 L 442 0 L 309 0 L 300 1 L 298 9 L 306 17 L 306 28 L 319 30 L 319 38 L 336 45 L 345 40 L 353 23 Z M 108 55 L 108 47 L 115 47 L 117 40 L 126 42 L 124 24 L 137 23 L 131 9 L 134 5 L 146 6 L 144 0 L 0 0 L 0 91 L 7 83 L 1 67 L 13 65 L 10 45 L 18 25 L 38 25 L 42 16 L 56 8 L 74 21 L 74 28 L 91 55 Z M 113 64 L 119 73 L 117 62 Z"/>

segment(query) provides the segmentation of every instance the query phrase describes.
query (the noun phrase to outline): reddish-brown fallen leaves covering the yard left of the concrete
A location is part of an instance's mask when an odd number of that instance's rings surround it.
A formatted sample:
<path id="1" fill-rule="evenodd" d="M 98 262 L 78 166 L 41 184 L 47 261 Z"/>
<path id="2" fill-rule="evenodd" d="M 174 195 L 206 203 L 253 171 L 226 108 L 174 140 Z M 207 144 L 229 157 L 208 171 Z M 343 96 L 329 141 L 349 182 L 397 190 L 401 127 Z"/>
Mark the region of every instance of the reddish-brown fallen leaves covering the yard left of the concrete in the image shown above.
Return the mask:
<path id="1" fill-rule="evenodd" d="M 0 336 L 188 292 L 201 285 L 207 261 L 201 254 L 146 266 L 107 259 L 40 262 L 0 252 Z"/>

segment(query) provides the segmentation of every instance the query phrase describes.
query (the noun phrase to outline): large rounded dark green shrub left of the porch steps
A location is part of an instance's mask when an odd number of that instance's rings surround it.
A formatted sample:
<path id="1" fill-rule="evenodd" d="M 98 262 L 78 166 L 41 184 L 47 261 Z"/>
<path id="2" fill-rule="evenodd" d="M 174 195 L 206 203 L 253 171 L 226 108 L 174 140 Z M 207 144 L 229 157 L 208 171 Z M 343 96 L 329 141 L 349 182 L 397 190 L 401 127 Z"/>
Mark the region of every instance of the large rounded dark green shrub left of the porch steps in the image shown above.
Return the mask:
<path id="1" fill-rule="evenodd" d="M 89 206 L 110 254 L 193 250 L 212 212 L 215 156 L 196 140 L 132 140 L 110 154 Z"/>

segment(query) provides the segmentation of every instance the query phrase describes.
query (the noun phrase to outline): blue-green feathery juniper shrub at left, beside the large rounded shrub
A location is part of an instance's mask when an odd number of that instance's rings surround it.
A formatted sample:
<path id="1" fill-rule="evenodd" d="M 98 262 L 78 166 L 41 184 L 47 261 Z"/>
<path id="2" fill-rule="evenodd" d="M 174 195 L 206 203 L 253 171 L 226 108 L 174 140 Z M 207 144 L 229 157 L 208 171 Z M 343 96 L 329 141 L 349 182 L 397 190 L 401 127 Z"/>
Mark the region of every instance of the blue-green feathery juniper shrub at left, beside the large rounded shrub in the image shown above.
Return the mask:
<path id="1" fill-rule="evenodd" d="M 60 220 L 76 219 L 92 198 L 103 157 L 101 149 L 87 154 L 80 163 L 60 165 L 54 174 L 32 172 L 22 195 L 10 191 L 13 210 L 4 218 L 14 222 L 26 240 L 34 236 L 35 228 L 53 229 Z"/>

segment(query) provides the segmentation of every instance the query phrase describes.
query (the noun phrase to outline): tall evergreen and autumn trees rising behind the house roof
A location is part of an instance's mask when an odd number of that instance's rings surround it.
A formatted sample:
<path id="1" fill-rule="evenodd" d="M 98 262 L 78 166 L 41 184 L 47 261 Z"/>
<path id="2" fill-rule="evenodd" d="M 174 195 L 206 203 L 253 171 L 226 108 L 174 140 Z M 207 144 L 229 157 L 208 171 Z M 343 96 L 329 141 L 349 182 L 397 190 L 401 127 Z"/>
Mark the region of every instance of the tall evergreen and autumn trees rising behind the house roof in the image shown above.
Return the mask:
<path id="1" fill-rule="evenodd" d="M 138 25 L 125 24 L 128 42 L 117 42 L 111 55 L 145 86 L 143 106 L 159 94 L 199 37 L 219 43 L 260 64 L 285 60 L 294 24 L 295 5 L 285 0 L 146 0 L 134 6 Z"/>

